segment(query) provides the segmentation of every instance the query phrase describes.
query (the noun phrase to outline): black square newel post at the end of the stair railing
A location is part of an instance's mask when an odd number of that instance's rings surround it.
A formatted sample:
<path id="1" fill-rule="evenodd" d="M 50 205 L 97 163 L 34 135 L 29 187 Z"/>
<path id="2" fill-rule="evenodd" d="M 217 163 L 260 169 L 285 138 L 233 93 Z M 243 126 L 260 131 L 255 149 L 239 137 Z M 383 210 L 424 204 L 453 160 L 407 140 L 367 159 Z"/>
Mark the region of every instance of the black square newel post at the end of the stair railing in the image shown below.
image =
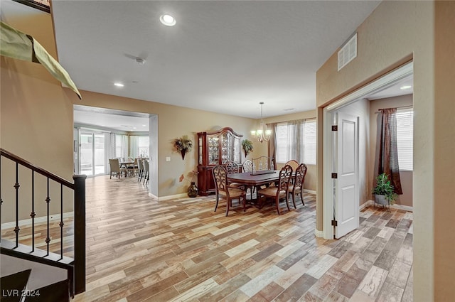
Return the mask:
<path id="1" fill-rule="evenodd" d="M 74 290 L 85 291 L 85 175 L 74 179 Z"/>

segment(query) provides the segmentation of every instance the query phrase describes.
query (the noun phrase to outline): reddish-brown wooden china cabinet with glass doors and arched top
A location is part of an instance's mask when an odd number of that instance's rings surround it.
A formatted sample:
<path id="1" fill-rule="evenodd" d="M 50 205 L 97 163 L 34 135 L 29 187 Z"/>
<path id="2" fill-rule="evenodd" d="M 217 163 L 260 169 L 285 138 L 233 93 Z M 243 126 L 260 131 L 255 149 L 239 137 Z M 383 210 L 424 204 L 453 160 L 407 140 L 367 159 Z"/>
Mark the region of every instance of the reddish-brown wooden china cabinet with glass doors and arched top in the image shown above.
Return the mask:
<path id="1" fill-rule="evenodd" d="M 228 161 L 242 163 L 240 139 L 242 135 L 225 127 L 214 132 L 198 133 L 198 189 L 199 195 L 215 193 L 212 170 Z"/>

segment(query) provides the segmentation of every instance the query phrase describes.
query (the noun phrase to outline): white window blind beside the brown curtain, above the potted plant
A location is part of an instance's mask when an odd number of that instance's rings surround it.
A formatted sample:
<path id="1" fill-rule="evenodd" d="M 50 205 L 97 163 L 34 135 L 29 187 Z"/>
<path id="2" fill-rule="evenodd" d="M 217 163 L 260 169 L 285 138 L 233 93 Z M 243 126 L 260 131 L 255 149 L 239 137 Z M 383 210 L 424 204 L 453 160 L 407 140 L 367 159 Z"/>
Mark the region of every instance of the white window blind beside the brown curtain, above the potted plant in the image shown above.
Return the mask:
<path id="1" fill-rule="evenodd" d="M 397 109 L 397 149 L 400 170 L 412 171 L 414 146 L 412 133 L 414 131 L 413 109 Z"/>

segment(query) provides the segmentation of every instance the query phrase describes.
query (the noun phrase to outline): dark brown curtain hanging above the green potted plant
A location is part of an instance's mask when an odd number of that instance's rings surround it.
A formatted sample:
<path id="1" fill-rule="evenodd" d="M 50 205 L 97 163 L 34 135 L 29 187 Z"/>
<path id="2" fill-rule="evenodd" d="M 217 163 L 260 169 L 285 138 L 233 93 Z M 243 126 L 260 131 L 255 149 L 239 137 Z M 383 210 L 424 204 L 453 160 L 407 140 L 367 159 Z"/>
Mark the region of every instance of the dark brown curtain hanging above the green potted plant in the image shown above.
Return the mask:
<path id="1" fill-rule="evenodd" d="M 381 112 L 378 173 L 385 173 L 395 188 L 395 193 L 402 194 L 397 151 L 397 109 L 382 109 Z"/>

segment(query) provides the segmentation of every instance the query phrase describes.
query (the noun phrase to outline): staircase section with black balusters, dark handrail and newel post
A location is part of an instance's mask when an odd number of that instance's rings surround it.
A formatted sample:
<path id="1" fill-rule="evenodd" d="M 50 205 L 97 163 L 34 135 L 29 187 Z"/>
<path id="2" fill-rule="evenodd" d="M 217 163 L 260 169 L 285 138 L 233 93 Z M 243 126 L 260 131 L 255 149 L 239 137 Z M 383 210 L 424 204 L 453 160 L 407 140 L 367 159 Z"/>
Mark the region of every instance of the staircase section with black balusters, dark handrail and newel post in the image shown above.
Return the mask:
<path id="1" fill-rule="evenodd" d="M 0 149 L 1 273 L 8 274 L 1 276 L 2 302 L 68 301 L 70 296 L 85 291 L 85 178 L 73 176 L 74 183 L 70 183 Z M 35 200 L 43 194 L 45 198 Z M 55 212 L 55 207 L 60 207 L 60 212 Z M 69 221 L 63 212 L 68 207 L 73 208 L 73 219 Z M 24 220 L 23 212 L 28 209 L 31 219 Z M 36 217 L 36 212 L 41 217 Z M 5 217 L 9 221 L 2 223 Z M 55 218 L 60 220 L 58 225 Z M 4 230 L 5 226 L 10 230 Z M 14 258 L 4 261 L 4 257 Z M 11 271 L 11 266 L 18 269 Z M 50 271 L 45 275 L 63 275 L 63 278 L 60 276 L 57 281 L 53 278 L 51 284 L 41 282 L 36 288 L 41 279 L 49 279 L 38 274 L 43 268 Z M 60 271 L 53 273 L 52 269 Z"/>

